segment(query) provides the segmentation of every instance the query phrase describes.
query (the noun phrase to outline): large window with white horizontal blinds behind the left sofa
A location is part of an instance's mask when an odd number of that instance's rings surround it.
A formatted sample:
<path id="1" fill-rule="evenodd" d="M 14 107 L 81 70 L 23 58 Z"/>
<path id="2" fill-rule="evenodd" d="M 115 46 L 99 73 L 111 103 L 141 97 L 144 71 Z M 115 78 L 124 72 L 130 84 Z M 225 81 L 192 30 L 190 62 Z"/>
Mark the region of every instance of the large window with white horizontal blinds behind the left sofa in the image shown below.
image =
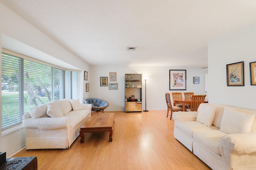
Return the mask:
<path id="1" fill-rule="evenodd" d="M 64 98 L 78 99 L 78 72 L 2 53 L 2 129 L 24 113 Z"/>

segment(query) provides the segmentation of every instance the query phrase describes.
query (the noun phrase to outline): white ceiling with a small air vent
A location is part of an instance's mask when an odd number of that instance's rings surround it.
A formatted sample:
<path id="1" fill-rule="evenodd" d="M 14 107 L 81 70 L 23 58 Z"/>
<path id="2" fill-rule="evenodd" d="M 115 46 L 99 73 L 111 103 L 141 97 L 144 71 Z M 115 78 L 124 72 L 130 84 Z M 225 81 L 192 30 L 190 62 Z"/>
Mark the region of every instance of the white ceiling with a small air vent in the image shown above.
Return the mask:
<path id="1" fill-rule="evenodd" d="M 256 21 L 256 0 L 0 2 L 89 65 L 207 67 L 210 41 Z"/>

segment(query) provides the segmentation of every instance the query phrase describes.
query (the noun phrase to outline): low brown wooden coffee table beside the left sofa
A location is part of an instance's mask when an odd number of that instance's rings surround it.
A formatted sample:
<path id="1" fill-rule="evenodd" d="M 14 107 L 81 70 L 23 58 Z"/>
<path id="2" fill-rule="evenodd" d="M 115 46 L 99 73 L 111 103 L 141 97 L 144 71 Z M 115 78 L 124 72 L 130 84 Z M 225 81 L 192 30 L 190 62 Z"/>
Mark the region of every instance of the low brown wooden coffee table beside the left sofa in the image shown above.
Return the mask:
<path id="1" fill-rule="evenodd" d="M 114 113 L 92 113 L 92 116 L 80 127 L 80 143 L 84 143 L 84 132 L 109 132 L 112 142 Z"/>

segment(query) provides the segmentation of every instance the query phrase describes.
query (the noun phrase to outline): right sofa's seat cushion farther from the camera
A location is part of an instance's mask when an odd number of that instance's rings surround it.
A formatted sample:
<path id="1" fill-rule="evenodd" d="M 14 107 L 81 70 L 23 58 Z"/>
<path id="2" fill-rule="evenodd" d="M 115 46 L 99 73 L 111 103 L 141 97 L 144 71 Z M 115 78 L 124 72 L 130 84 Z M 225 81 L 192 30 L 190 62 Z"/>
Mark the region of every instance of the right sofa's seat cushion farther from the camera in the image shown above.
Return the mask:
<path id="1" fill-rule="evenodd" d="M 176 122 L 176 128 L 180 128 L 183 132 L 188 134 L 189 136 L 192 137 L 193 132 L 195 130 L 211 130 L 211 129 L 218 129 L 214 126 L 207 127 L 202 123 L 199 123 L 197 121 L 181 121 L 181 122 Z"/>

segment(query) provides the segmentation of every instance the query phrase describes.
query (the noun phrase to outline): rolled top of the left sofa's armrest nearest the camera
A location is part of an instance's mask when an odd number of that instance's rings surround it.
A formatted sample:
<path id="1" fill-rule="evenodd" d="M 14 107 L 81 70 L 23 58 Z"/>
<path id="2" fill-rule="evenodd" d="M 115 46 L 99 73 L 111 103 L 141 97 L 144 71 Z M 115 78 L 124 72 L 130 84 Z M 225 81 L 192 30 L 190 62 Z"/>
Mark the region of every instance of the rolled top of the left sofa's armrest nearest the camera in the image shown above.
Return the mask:
<path id="1" fill-rule="evenodd" d="M 68 117 L 40 117 L 23 120 L 22 126 L 24 128 L 61 129 L 70 128 L 71 124 Z"/>

